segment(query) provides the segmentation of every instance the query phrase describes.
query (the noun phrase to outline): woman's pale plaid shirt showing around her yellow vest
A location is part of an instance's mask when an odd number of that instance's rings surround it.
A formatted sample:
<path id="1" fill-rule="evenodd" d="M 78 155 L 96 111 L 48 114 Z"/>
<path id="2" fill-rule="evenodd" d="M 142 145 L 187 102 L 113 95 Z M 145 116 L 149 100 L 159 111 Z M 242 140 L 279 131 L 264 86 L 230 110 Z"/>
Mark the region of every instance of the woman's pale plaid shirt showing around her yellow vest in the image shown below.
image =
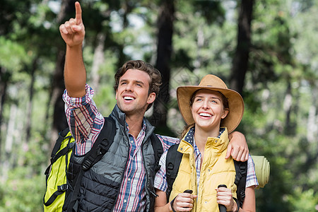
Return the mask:
<path id="1" fill-rule="evenodd" d="M 223 131 L 220 131 L 220 134 L 222 134 Z M 190 129 L 190 131 L 187 134 L 187 139 L 194 141 L 194 131 L 193 129 Z M 192 143 L 192 142 L 189 142 Z M 194 141 L 194 158 L 196 163 L 196 182 L 197 186 L 199 187 L 200 182 L 200 164 L 201 164 L 201 153 L 199 151 L 199 148 L 196 146 L 196 142 Z M 155 188 L 159 189 L 160 191 L 166 192 L 167 190 L 167 177 L 165 175 L 165 161 L 167 158 L 167 151 L 163 153 L 163 155 L 160 158 L 159 165 L 161 165 L 160 170 L 155 175 Z M 246 186 L 245 187 L 251 187 L 255 186 L 257 187 L 259 183 L 257 182 L 257 177 L 255 173 L 255 167 L 254 167 L 254 161 L 249 155 L 249 159 L 247 160 L 247 178 L 246 178 Z"/>

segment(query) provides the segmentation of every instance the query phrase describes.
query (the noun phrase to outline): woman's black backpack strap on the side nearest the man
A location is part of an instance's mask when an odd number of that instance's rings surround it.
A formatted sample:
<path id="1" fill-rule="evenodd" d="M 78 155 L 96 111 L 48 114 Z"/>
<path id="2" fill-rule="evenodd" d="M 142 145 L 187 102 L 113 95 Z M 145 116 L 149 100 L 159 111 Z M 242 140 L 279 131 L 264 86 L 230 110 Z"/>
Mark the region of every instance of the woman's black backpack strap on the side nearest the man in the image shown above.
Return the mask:
<path id="1" fill-rule="evenodd" d="M 172 145 L 167 151 L 167 158 L 165 162 L 165 170 L 167 177 L 167 202 L 172 191 L 172 185 L 175 182 L 175 178 L 178 175 L 179 166 L 182 160 L 182 153 L 178 152 L 177 149 L 179 144 Z"/>

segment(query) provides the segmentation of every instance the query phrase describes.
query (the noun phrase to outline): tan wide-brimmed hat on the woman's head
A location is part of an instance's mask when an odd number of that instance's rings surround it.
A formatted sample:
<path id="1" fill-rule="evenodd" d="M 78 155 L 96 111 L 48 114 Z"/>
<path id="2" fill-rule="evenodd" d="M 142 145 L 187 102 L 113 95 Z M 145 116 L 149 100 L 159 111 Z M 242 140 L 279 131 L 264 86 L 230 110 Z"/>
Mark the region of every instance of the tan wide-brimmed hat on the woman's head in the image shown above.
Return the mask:
<path id="1" fill-rule="evenodd" d="M 229 112 L 221 121 L 220 126 L 226 126 L 228 132 L 232 132 L 240 124 L 244 112 L 244 102 L 240 93 L 230 90 L 225 83 L 212 74 L 208 74 L 202 78 L 199 86 L 180 86 L 177 88 L 177 100 L 179 110 L 187 124 L 194 124 L 192 112 L 190 109 L 190 101 L 196 90 L 208 89 L 216 90 L 228 98 Z"/>

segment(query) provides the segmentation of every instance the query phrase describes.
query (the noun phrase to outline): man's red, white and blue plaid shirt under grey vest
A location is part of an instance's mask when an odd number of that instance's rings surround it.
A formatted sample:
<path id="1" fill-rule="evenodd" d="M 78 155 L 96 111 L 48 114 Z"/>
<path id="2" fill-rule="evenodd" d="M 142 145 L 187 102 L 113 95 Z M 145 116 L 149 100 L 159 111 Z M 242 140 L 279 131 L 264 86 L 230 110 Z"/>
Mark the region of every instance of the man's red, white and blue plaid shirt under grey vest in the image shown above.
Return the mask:
<path id="1" fill-rule="evenodd" d="M 82 98 L 71 98 L 67 91 L 64 91 L 66 119 L 76 140 L 76 155 L 84 155 L 90 151 L 104 124 L 104 117 L 97 110 L 93 94 L 93 89 L 88 85 L 86 85 L 86 95 Z M 145 130 L 146 124 L 143 122 L 137 138 L 129 134 L 129 160 L 113 211 L 144 211 L 146 207 L 146 198 L 144 198 L 146 196 L 146 173 L 141 154 L 141 143 L 145 137 Z M 179 143 L 179 139 L 176 138 L 157 136 L 163 143 L 164 151 L 167 151 L 173 144 Z"/>

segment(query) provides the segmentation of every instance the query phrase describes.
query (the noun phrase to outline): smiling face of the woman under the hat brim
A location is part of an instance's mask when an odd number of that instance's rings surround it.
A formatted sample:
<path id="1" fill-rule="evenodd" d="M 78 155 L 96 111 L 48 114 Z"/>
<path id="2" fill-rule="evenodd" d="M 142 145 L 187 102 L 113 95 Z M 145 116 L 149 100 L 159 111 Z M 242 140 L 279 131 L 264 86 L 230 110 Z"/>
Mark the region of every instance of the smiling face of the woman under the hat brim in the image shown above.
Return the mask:
<path id="1" fill-rule="evenodd" d="M 196 126 L 207 130 L 219 129 L 221 119 L 228 114 L 223 107 L 222 95 L 207 89 L 196 92 L 191 110 Z"/>

